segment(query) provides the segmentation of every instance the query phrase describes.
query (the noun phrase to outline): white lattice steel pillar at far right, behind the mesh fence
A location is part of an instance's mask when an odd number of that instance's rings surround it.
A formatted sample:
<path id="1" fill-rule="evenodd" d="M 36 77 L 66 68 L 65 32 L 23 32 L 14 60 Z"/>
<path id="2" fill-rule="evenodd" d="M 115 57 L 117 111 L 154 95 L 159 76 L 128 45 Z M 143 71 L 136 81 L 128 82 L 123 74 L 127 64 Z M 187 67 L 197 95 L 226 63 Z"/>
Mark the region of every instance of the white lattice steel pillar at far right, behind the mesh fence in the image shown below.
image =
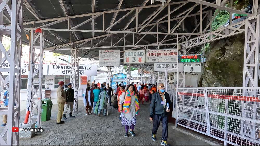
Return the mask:
<path id="1" fill-rule="evenodd" d="M 254 1 L 255 2 L 255 1 Z M 255 10 L 257 6 L 253 7 Z M 253 9 L 253 10 L 254 10 Z M 252 16 L 245 21 L 245 46 L 244 46 L 244 69 L 243 69 L 243 87 L 258 87 L 260 71 L 260 15 Z M 257 90 L 247 92 L 243 89 L 243 96 L 257 97 Z M 257 108 L 255 106 L 257 102 L 245 102 L 242 101 L 242 117 L 252 117 L 257 120 L 255 113 Z M 253 110 L 251 107 L 254 107 Z M 249 127 L 249 131 L 245 131 L 244 127 Z M 258 139 L 256 136 L 256 123 L 248 124 L 246 121 L 241 120 L 241 135 L 251 137 L 253 140 Z"/>

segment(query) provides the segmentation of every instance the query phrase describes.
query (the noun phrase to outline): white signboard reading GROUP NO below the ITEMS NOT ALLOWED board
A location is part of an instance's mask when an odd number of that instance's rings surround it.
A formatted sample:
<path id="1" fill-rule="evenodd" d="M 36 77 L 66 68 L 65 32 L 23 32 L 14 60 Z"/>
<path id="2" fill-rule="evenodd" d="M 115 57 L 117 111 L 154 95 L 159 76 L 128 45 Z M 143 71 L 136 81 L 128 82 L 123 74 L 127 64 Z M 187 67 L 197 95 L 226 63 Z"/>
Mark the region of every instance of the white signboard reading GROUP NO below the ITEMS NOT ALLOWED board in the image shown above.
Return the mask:
<path id="1" fill-rule="evenodd" d="M 164 72 L 166 69 L 176 68 L 177 63 L 154 63 L 155 72 Z M 183 63 L 178 64 L 179 72 L 183 72 Z M 171 72 L 177 72 L 177 69 L 172 70 Z"/>

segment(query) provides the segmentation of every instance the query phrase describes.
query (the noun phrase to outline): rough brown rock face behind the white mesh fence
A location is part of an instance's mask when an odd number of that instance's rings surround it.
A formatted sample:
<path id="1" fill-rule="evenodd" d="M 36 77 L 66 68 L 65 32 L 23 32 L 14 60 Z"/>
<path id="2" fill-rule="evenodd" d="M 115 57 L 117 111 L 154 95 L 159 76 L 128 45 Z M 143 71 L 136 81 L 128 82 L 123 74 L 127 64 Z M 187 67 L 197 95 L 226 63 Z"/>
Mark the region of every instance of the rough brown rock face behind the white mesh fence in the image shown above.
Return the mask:
<path id="1" fill-rule="evenodd" d="M 199 87 L 242 87 L 244 34 L 210 44 Z"/>

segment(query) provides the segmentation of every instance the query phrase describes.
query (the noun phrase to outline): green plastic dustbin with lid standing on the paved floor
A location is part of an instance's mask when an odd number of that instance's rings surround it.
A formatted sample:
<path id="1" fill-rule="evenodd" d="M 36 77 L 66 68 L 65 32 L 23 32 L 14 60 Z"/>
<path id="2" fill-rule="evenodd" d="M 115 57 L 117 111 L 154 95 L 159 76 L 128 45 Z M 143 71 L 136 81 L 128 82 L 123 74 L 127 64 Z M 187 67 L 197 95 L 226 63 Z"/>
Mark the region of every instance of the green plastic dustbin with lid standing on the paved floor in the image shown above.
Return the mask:
<path id="1" fill-rule="evenodd" d="M 48 121 L 50 120 L 51 115 L 51 106 L 53 103 L 50 99 L 43 99 L 42 100 L 42 117 L 41 121 Z"/>

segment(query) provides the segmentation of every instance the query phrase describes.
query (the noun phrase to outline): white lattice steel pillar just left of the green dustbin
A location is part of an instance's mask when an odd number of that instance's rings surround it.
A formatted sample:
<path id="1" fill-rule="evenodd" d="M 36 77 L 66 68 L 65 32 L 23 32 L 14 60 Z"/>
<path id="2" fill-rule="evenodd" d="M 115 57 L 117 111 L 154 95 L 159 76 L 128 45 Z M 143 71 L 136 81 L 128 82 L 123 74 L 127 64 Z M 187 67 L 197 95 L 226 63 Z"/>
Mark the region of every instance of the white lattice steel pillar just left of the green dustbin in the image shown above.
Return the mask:
<path id="1" fill-rule="evenodd" d="M 34 33 L 31 29 L 30 42 L 30 62 L 28 73 L 27 93 L 27 109 L 30 111 L 29 123 L 34 122 L 37 118 L 37 128 L 41 127 L 41 109 L 42 109 L 42 73 L 43 73 L 43 43 L 44 32 Z M 40 51 L 36 51 L 39 49 Z M 37 52 L 37 53 L 36 53 Z"/>

